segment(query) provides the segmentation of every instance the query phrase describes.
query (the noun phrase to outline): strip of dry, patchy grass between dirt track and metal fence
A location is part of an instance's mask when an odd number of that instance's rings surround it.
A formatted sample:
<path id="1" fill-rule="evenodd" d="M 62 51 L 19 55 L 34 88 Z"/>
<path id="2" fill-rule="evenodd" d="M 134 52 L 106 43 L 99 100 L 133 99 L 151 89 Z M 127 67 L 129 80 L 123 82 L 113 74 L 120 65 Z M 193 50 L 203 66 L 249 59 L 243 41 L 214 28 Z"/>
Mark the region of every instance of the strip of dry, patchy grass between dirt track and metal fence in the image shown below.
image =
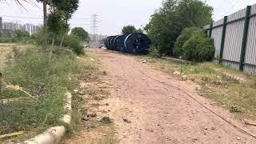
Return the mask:
<path id="1" fill-rule="evenodd" d="M 174 77 L 182 79 L 182 75 L 186 75 L 189 80 L 202 86 L 202 90 L 198 90 L 200 95 L 213 99 L 232 113 L 250 118 L 256 115 L 256 78 L 253 76 L 212 62 L 190 65 L 151 56 L 140 57 L 139 61 L 143 59 L 155 69 Z M 175 71 L 180 74 L 175 75 Z M 222 72 L 246 78 L 246 83 L 230 80 Z"/>

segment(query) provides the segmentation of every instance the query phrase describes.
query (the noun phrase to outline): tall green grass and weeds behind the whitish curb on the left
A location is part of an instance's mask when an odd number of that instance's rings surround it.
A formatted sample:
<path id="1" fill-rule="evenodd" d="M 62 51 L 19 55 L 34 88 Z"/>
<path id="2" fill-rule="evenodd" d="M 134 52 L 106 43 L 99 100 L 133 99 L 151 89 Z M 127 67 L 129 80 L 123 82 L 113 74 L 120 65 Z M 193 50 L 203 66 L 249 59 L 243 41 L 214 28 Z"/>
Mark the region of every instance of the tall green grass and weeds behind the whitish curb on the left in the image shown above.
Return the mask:
<path id="1" fill-rule="evenodd" d="M 58 126 L 65 113 L 65 92 L 77 86 L 76 56 L 70 50 L 54 50 L 50 59 L 37 47 L 14 53 L 14 63 L 2 70 L 4 81 L 21 86 L 34 98 L 21 91 L 3 90 L 0 99 L 24 97 L 34 101 L 0 103 L 0 134 L 19 130 L 36 133 Z"/>

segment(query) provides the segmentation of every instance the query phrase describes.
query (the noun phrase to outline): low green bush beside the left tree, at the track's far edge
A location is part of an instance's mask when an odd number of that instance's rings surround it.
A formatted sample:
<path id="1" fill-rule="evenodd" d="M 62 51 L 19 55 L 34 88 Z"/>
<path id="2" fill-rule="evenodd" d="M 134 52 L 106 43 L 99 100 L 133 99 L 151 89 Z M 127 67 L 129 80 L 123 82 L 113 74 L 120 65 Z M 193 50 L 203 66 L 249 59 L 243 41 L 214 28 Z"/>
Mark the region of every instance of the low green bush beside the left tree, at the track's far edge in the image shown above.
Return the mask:
<path id="1" fill-rule="evenodd" d="M 82 42 L 77 35 L 70 34 L 66 36 L 63 42 L 63 46 L 66 46 L 68 49 L 73 50 L 76 54 L 84 54 Z"/>

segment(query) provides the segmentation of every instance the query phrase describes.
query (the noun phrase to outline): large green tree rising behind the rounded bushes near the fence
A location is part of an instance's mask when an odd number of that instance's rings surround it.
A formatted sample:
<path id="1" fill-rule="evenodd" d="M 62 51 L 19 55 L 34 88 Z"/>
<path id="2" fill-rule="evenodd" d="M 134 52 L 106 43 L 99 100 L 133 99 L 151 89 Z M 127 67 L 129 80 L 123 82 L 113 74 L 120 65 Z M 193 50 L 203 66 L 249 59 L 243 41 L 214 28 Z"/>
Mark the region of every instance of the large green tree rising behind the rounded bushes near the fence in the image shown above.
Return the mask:
<path id="1" fill-rule="evenodd" d="M 206 26 L 212 22 L 212 13 L 213 8 L 201 0 L 165 0 L 145 30 L 160 54 L 171 55 L 181 31 Z"/>

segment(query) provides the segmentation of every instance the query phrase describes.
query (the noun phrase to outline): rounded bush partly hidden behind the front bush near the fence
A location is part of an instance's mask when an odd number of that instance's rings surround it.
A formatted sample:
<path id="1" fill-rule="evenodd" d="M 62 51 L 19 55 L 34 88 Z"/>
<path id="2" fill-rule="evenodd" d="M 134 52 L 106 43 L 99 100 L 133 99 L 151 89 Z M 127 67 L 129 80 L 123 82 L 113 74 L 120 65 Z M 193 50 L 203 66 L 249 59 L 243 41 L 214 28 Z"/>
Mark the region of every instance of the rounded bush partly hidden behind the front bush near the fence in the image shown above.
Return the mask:
<path id="1" fill-rule="evenodd" d="M 180 56 L 182 56 L 184 52 L 184 50 L 182 49 L 182 46 L 194 34 L 202 35 L 202 37 L 206 35 L 202 29 L 196 28 L 196 27 L 186 28 L 185 30 L 182 30 L 182 33 L 178 36 L 174 44 L 174 52 L 173 52 L 174 57 L 179 58 Z"/>

